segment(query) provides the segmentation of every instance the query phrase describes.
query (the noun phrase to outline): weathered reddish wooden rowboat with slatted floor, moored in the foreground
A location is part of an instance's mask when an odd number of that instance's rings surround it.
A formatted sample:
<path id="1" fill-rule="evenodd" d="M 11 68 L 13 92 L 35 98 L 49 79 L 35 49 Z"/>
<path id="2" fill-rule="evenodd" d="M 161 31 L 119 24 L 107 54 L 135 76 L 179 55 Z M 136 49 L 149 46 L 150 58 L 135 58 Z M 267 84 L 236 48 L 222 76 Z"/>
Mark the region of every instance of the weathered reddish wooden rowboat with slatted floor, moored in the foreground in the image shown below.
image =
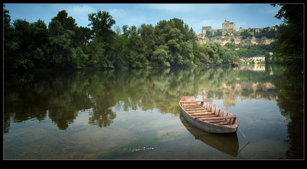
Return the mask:
<path id="1" fill-rule="evenodd" d="M 188 122 L 206 132 L 237 132 L 237 116 L 210 102 L 184 96 L 179 102 L 182 115 Z"/>

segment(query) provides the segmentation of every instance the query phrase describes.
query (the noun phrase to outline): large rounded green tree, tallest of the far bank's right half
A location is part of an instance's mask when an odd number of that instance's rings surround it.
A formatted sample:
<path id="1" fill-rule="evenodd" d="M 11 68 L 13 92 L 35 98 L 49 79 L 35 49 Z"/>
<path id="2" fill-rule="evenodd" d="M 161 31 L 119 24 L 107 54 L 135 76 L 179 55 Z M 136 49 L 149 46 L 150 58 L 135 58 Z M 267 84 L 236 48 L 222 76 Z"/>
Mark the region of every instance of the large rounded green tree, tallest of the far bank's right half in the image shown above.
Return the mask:
<path id="1" fill-rule="evenodd" d="M 159 66 L 190 66 L 194 64 L 193 44 L 196 35 L 192 28 L 178 18 L 161 20 L 154 29 L 159 52 L 153 52 L 152 61 Z M 167 54 L 165 54 L 167 52 Z M 162 59 L 161 56 L 166 58 Z"/>

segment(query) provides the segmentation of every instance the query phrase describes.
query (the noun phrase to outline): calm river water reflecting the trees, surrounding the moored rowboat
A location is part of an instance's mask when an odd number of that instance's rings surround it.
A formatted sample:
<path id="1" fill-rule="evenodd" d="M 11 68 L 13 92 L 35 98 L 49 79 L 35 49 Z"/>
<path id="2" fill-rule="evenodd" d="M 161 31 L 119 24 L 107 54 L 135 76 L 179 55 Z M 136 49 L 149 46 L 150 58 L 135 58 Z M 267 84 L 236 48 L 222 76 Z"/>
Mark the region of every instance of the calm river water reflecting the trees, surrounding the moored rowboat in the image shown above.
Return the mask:
<path id="1" fill-rule="evenodd" d="M 183 96 L 239 118 L 203 132 Z M 304 75 L 281 65 L 4 72 L 3 159 L 304 159 Z"/>

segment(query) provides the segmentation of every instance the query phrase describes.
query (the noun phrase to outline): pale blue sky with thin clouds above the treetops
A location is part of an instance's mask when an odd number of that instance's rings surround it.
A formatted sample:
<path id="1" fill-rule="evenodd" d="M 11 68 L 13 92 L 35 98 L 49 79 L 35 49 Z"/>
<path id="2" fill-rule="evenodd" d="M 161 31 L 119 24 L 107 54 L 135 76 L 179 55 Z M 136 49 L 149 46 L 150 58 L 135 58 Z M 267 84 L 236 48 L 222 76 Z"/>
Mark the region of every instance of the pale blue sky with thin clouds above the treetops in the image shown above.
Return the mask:
<path id="1" fill-rule="evenodd" d="M 143 23 L 155 26 L 160 20 L 176 17 L 192 27 L 195 33 L 200 33 L 203 26 L 221 29 L 225 20 L 234 22 L 237 31 L 240 27 L 271 27 L 283 20 L 274 17 L 280 6 L 269 4 L 4 4 L 9 10 L 11 22 L 15 19 L 28 22 L 41 19 L 47 26 L 51 18 L 62 10 L 66 10 L 68 16 L 83 27 L 88 27 L 90 23 L 88 14 L 101 10 L 109 12 L 116 21 L 115 25 L 120 27 L 139 27 Z"/>

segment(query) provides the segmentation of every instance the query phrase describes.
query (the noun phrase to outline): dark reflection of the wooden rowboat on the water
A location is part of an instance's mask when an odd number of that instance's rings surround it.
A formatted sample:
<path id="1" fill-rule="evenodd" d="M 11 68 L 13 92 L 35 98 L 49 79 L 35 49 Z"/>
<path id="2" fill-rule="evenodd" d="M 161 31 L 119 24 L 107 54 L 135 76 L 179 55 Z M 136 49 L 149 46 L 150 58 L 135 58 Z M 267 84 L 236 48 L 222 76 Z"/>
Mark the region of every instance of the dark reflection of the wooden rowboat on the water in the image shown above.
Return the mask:
<path id="1" fill-rule="evenodd" d="M 229 154 L 233 157 L 237 157 L 239 151 L 239 141 L 237 132 L 231 133 L 209 133 L 193 126 L 188 122 L 180 112 L 180 120 L 187 130 L 195 137 L 195 139 L 204 142 L 205 144 Z"/>

